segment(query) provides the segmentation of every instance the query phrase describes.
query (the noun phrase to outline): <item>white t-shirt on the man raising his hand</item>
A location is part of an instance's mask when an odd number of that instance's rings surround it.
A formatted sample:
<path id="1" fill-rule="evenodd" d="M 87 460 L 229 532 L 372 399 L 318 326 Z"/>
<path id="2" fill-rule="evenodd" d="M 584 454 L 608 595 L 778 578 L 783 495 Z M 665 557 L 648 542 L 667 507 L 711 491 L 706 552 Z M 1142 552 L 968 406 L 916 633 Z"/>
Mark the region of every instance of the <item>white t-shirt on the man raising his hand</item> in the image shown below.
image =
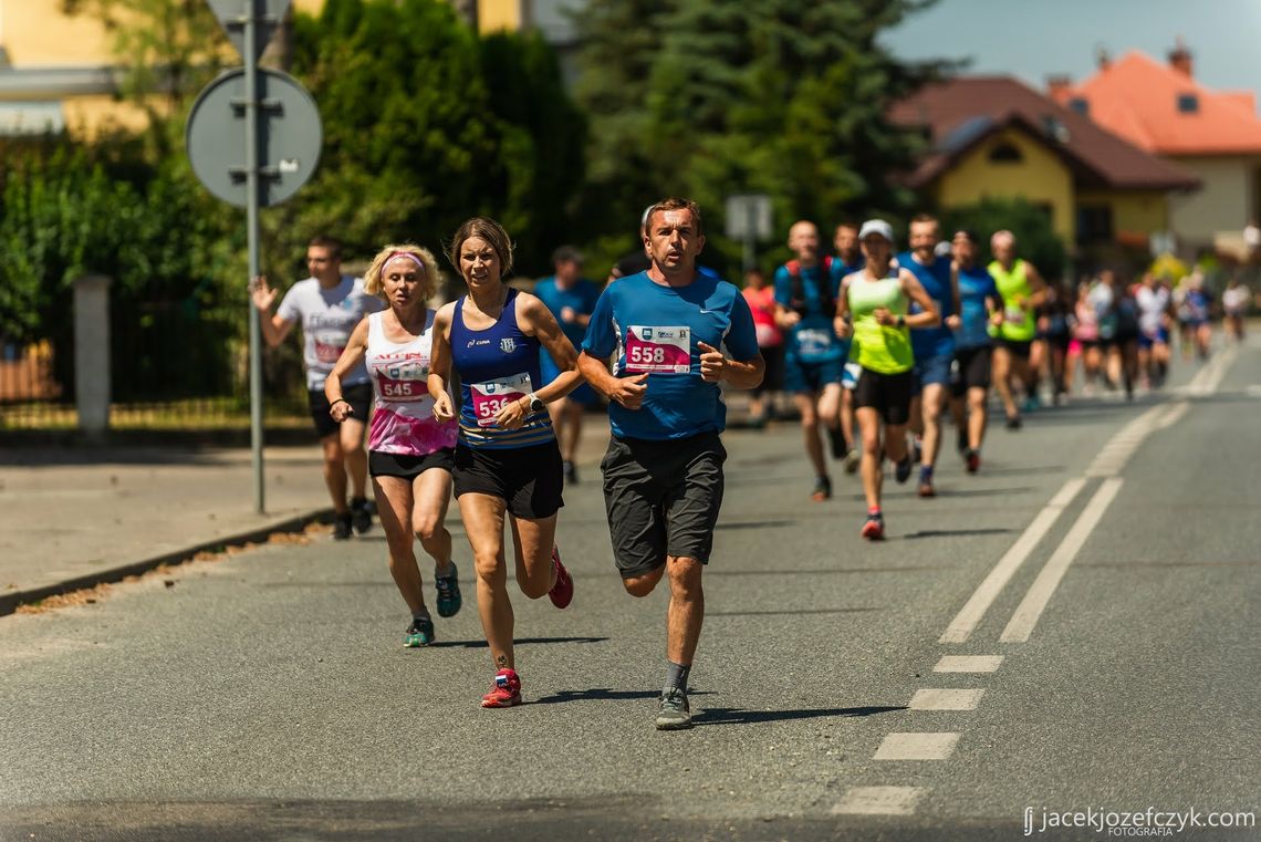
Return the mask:
<path id="1" fill-rule="evenodd" d="M 306 388 L 324 388 L 324 378 L 351 340 L 356 325 L 369 313 L 385 309 L 385 301 L 363 291 L 363 280 L 342 276 L 342 282 L 325 290 L 314 277 L 298 281 L 276 310 L 285 321 L 303 326 L 303 363 Z M 361 362 L 346 376 L 347 386 L 368 382 L 368 369 Z"/>

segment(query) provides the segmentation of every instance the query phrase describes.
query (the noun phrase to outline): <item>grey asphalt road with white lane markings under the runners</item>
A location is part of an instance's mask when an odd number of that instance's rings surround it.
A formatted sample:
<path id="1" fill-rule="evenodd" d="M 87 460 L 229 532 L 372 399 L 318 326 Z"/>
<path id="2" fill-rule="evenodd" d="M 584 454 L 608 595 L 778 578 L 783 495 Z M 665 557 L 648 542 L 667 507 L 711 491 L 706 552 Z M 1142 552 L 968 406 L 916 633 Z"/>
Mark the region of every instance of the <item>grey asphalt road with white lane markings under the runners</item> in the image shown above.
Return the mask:
<path id="1" fill-rule="evenodd" d="M 401 647 L 380 532 L 0 619 L 0 839 L 1101 839 L 1145 836 L 1043 831 L 1044 810 L 1255 817 L 1257 383 L 1251 345 L 1164 396 L 994 429 L 980 475 L 946 454 L 937 499 L 890 480 L 876 546 L 856 478 L 810 502 L 793 427 L 729 434 L 686 732 L 652 729 L 666 595 L 623 594 L 594 470 L 561 516 L 574 605 L 514 597 L 518 708 L 477 706 L 493 671 L 454 514 L 467 604 L 429 649 Z"/>

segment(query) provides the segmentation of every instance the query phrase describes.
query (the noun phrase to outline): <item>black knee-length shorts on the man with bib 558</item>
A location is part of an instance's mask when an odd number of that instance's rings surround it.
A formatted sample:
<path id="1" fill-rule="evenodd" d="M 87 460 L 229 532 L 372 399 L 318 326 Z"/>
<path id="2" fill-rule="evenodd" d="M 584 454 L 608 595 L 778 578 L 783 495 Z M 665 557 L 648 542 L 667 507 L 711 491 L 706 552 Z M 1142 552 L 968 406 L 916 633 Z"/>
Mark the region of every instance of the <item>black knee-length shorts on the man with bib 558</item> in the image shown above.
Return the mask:
<path id="1" fill-rule="evenodd" d="M 613 558 L 623 579 L 666 563 L 666 556 L 709 563 L 723 507 L 726 449 L 716 432 L 689 439 L 609 440 L 600 461 Z"/>

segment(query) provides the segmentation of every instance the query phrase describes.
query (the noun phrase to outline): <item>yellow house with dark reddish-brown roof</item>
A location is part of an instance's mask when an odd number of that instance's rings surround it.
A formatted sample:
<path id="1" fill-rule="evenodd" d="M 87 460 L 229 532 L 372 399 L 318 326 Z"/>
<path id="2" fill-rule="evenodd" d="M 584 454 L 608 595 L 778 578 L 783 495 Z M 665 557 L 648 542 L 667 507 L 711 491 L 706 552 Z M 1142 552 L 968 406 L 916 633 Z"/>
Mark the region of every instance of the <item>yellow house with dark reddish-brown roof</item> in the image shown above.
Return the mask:
<path id="1" fill-rule="evenodd" d="M 1183 168 L 1008 76 L 929 84 L 889 117 L 929 140 L 908 184 L 931 203 L 1024 198 L 1086 258 L 1146 252 L 1151 236 L 1170 224 L 1170 197 L 1199 187 Z"/>

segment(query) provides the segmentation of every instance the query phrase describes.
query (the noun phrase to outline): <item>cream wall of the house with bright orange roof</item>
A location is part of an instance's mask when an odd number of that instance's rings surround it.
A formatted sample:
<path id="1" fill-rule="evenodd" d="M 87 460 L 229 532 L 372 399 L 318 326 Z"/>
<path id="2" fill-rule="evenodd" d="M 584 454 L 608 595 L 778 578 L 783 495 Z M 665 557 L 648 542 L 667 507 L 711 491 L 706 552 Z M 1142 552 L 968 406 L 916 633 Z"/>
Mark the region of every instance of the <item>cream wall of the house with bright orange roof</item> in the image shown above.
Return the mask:
<path id="1" fill-rule="evenodd" d="M 1203 187 L 1189 194 L 1174 194 L 1169 202 L 1170 224 L 1187 245 L 1203 246 L 1217 234 L 1237 233 L 1257 214 L 1256 170 L 1261 156 L 1173 158 Z"/>

